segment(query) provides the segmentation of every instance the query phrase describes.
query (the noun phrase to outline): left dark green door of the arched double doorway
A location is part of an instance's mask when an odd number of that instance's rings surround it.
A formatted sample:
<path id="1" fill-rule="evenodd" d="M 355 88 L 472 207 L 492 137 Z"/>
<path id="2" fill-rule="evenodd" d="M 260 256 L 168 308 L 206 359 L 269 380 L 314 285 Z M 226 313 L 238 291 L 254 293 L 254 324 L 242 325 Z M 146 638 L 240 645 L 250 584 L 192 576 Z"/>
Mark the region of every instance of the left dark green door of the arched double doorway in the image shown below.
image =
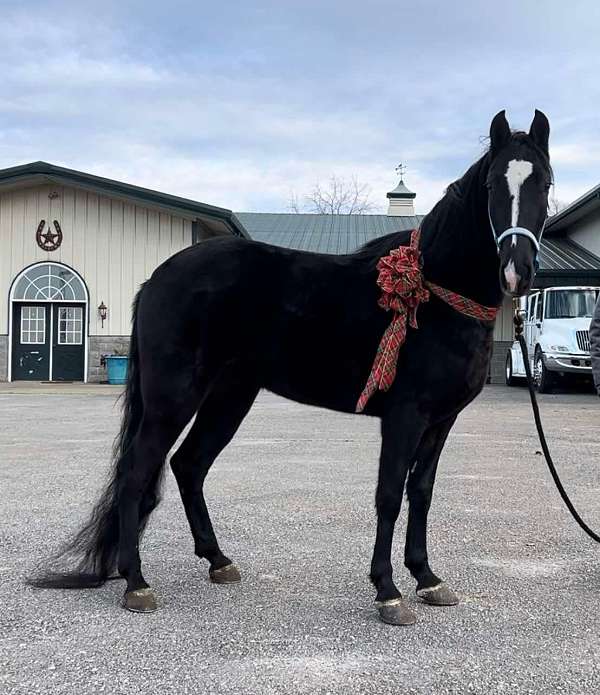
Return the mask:
<path id="1" fill-rule="evenodd" d="M 14 304 L 13 381 L 50 378 L 50 304 Z"/>

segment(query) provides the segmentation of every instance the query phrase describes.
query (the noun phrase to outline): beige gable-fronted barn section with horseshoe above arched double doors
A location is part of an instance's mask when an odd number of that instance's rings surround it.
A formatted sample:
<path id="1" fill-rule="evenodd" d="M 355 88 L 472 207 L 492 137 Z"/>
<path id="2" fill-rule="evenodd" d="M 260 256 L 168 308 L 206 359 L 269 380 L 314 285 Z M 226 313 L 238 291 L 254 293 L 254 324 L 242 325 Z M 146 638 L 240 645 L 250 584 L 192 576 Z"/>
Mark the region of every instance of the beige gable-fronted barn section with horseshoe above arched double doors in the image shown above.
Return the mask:
<path id="1" fill-rule="evenodd" d="M 45 162 L 1 170 L 0 380 L 105 380 L 140 283 L 223 234 L 246 236 L 230 210 Z"/>

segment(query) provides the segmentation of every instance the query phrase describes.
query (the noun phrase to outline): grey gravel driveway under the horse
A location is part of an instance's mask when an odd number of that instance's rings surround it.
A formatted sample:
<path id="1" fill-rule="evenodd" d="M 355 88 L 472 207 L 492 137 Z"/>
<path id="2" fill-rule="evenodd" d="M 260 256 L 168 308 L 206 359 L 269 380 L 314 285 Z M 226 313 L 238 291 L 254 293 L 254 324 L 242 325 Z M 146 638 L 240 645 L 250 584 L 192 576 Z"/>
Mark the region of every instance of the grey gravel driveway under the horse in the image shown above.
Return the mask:
<path id="1" fill-rule="evenodd" d="M 565 484 L 600 528 L 600 402 L 541 401 Z M 142 545 L 157 613 L 120 609 L 120 581 L 25 587 L 94 502 L 118 416 L 107 387 L 0 388 L 4 695 L 600 691 L 600 548 L 562 507 L 523 389 L 486 388 L 442 456 L 430 556 L 459 606 L 416 601 L 399 525 L 396 576 L 418 614 L 408 628 L 377 620 L 367 579 L 377 421 L 270 394 L 207 481 L 242 584 L 207 581 L 169 472 Z"/>

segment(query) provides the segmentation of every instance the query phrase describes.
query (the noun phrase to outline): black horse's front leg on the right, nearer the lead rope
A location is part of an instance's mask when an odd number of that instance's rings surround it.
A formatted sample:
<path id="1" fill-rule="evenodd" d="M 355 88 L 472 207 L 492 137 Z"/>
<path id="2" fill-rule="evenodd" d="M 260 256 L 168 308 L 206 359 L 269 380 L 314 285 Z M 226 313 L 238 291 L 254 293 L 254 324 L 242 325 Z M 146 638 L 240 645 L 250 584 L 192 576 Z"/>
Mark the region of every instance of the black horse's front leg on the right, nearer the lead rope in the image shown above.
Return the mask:
<path id="1" fill-rule="evenodd" d="M 458 603 L 454 592 L 432 572 L 427 557 L 427 515 L 435 473 L 455 420 L 456 417 L 451 417 L 425 432 L 406 486 L 409 511 L 404 564 L 417 580 L 417 596 L 434 606 L 454 606 Z"/>

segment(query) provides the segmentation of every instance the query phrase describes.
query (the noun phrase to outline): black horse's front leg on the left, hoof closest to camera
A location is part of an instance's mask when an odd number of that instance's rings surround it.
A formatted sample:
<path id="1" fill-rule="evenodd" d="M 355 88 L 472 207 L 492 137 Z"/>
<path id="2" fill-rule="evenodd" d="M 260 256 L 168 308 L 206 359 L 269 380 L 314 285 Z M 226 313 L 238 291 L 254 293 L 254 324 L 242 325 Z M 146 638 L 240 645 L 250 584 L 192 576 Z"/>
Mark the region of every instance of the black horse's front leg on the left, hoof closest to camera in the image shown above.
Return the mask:
<path id="1" fill-rule="evenodd" d="M 392 580 L 392 540 L 400 513 L 406 474 L 415 459 L 426 423 L 415 418 L 415 408 L 392 408 L 381 423 L 381 455 L 375 505 L 377 537 L 371 561 L 371 581 L 377 589 L 376 603 L 381 619 L 392 625 L 411 625 L 415 614 L 402 601 Z"/>

